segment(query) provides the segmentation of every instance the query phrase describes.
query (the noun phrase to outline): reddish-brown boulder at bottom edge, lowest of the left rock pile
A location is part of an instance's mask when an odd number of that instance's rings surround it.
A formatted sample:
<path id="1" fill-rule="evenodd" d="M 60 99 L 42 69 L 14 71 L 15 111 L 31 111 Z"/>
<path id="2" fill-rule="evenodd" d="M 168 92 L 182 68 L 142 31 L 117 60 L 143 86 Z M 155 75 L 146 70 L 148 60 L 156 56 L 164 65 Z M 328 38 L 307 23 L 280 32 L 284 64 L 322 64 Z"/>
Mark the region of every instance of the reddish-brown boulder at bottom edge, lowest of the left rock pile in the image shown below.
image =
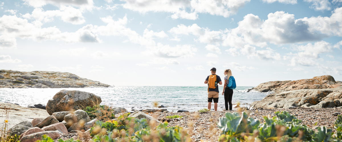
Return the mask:
<path id="1" fill-rule="evenodd" d="M 32 133 L 21 138 L 21 142 L 35 142 L 41 140 L 43 135 L 48 135 L 51 139 L 55 140 L 60 137 L 60 133 L 57 131 L 42 131 L 37 133 Z"/>

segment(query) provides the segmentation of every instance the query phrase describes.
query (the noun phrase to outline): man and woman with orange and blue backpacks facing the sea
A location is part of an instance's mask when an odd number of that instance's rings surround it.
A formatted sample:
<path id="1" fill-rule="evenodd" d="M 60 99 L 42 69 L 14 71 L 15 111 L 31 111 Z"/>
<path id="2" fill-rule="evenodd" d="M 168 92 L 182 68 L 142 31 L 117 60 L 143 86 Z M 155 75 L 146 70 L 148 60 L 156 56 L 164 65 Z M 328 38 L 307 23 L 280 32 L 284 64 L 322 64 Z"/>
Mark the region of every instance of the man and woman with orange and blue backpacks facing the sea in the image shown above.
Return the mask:
<path id="1" fill-rule="evenodd" d="M 217 111 L 217 103 L 219 102 L 219 85 L 222 85 L 221 78 L 216 75 L 216 68 L 211 68 L 211 75 L 209 75 L 204 81 L 205 84 L 208 84 L 208 109 L 211 109 L 211 102 L 214 100 L 214 109 Z M 235 89 L 235 79 L 232 76 L 231 69 L 224 70 L 224 85 L 222 95 L 224 95 L 224 106 L 226 110 L 232 110 L 232 97 L 233 97 L 233 89 Z"/>

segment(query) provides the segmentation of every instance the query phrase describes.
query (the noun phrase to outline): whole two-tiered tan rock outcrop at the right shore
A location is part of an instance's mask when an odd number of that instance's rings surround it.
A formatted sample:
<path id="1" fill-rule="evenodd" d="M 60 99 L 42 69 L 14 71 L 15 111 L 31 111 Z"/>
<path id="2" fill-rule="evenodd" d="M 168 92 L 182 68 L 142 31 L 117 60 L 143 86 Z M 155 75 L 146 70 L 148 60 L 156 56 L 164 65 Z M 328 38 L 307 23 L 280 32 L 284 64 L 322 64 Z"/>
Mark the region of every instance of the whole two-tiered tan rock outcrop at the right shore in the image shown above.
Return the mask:
<path id="1" fill-rule="evenodd" d="M 342 82 L 325 75 L 296 81 L 270 81 L 261 83 L 248 92 L 275 93 L 254 101 L 252 109 L 276 108 L 342 108 Z"/>

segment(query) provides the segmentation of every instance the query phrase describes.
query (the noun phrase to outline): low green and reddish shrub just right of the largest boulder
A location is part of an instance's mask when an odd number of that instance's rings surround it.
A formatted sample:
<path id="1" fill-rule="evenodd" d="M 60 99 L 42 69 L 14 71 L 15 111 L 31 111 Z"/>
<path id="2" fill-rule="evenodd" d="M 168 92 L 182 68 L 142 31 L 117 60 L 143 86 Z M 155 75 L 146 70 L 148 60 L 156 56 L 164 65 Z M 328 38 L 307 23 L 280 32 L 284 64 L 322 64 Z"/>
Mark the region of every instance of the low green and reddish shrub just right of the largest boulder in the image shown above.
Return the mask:
<path id="1" fill-rule="evenodd" d="M 115 115 L 113 114 L 113 109 L 106 105 L 96 105 L 93 107 L 86 107 L 83 109 L 88 113 L 88 116 L 91 119 L 97 118 L 98 120 L 111 120 L 115 119 Z"/>

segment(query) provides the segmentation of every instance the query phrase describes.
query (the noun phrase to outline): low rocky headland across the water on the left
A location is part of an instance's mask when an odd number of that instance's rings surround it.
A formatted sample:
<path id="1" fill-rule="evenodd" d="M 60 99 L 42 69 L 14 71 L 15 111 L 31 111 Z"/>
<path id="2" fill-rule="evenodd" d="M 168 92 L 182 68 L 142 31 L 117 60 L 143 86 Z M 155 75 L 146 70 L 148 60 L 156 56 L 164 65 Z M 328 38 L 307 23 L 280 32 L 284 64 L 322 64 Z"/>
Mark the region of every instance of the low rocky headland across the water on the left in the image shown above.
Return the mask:
<path id="1" fill-rule="evenodd" d="M 109 87 L 98 81 L 66 72 L 19 72 L 0 70 L 0 88 L 85 88 Z"/>

